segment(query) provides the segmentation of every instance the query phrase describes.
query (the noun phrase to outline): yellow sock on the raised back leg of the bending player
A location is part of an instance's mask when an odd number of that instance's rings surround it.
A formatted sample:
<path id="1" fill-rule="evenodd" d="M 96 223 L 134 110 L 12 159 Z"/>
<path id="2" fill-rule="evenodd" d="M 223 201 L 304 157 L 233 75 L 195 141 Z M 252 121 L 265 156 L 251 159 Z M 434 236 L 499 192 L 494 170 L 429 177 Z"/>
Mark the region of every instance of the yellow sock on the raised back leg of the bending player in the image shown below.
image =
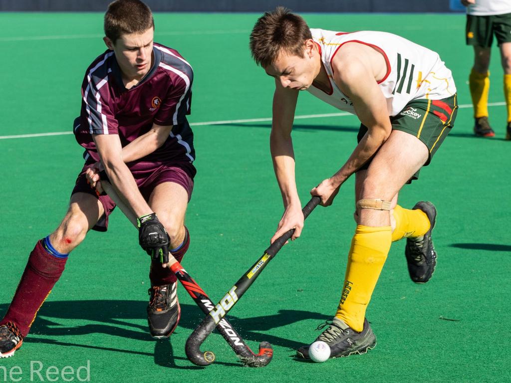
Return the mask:
<path id="1" fill-rule="evenodd" d="M 428 216 L 419 209 L 403 209 L 396 205 L 393 216 L 396 220 L 396 229 L 392 232 L 392 242 L 424 235 L 431 227 Z"/>

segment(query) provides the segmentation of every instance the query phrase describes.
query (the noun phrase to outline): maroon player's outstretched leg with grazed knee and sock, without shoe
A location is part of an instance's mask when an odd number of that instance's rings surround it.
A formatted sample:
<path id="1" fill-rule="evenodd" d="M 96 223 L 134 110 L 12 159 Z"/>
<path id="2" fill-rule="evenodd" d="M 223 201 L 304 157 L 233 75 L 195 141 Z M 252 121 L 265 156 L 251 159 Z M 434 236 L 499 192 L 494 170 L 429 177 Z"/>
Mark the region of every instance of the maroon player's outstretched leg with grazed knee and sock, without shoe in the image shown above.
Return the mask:
<path id="1" fill-rule="evenodd" d="M 101 202 L 90 194 L 76 193 L 61 224 L 51 235 L 38 241 L 0 325 L 13 323 L 27 336 L 37 310 L 64 271 L 67 255 L 83 241 L 86 232 L 103 215 Z"/>

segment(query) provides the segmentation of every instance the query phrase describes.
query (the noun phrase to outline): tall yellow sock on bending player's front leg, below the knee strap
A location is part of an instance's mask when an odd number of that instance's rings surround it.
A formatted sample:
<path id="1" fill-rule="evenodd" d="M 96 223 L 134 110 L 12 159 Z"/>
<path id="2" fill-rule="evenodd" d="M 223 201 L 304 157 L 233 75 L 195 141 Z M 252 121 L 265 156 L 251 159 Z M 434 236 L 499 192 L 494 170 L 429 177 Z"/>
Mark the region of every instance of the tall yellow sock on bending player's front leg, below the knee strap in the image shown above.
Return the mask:
<path id="1" fill-rule="evenodd" d="M 390 226 L 358 225 L 348 255 L 346 277 L 335 316 L 355 331 L 364 327 L 365 309 L 390 249 Z"/>

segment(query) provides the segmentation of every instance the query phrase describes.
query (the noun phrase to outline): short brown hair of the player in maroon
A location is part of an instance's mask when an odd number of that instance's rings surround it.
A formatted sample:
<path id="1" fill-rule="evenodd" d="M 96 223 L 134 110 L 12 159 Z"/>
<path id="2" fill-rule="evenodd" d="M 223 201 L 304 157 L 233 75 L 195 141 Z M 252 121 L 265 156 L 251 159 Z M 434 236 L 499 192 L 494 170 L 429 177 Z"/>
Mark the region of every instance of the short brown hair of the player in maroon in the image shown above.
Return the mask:
<path id="1" fill-rule="evenodd" d="M 115 0 L 105 13 L 105 36 L 117 41 L 121 35 L 154 28 L 151 10 L 140 0 Z"/>

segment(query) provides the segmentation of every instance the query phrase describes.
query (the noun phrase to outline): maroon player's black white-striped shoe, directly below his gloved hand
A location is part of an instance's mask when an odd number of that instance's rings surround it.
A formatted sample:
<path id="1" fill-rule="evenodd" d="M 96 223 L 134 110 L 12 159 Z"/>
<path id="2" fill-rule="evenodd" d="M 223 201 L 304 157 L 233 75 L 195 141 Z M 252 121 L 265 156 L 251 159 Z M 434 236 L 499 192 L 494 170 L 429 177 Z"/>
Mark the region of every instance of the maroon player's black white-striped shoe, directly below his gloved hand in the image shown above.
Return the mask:
<path id="1" fill-rule="evenodd" d="M 151 299 L 147 306 L 147 322 L 151 337 L 168 338 L 174 332 L 181 317 L 177 300 L 177 282 L 149 289 Z"/>

